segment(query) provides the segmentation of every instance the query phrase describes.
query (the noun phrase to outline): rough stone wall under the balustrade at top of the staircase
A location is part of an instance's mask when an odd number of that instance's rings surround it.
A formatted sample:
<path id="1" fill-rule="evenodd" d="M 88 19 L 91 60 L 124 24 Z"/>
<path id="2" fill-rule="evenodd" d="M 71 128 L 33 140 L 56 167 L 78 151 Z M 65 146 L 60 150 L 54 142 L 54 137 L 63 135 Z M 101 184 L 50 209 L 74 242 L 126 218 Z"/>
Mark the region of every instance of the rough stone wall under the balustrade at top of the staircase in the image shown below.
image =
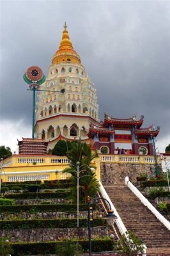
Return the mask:
<path id="1" fill-rule="evenodd" d="M 122 184 L 125 177 L 136 183 L 136 177 L 146 173 L 151 177 L 155 173 L 154 164 L 132 164 L 132 163 L 100 163 L 100 175 L 103 184 Z"/>

